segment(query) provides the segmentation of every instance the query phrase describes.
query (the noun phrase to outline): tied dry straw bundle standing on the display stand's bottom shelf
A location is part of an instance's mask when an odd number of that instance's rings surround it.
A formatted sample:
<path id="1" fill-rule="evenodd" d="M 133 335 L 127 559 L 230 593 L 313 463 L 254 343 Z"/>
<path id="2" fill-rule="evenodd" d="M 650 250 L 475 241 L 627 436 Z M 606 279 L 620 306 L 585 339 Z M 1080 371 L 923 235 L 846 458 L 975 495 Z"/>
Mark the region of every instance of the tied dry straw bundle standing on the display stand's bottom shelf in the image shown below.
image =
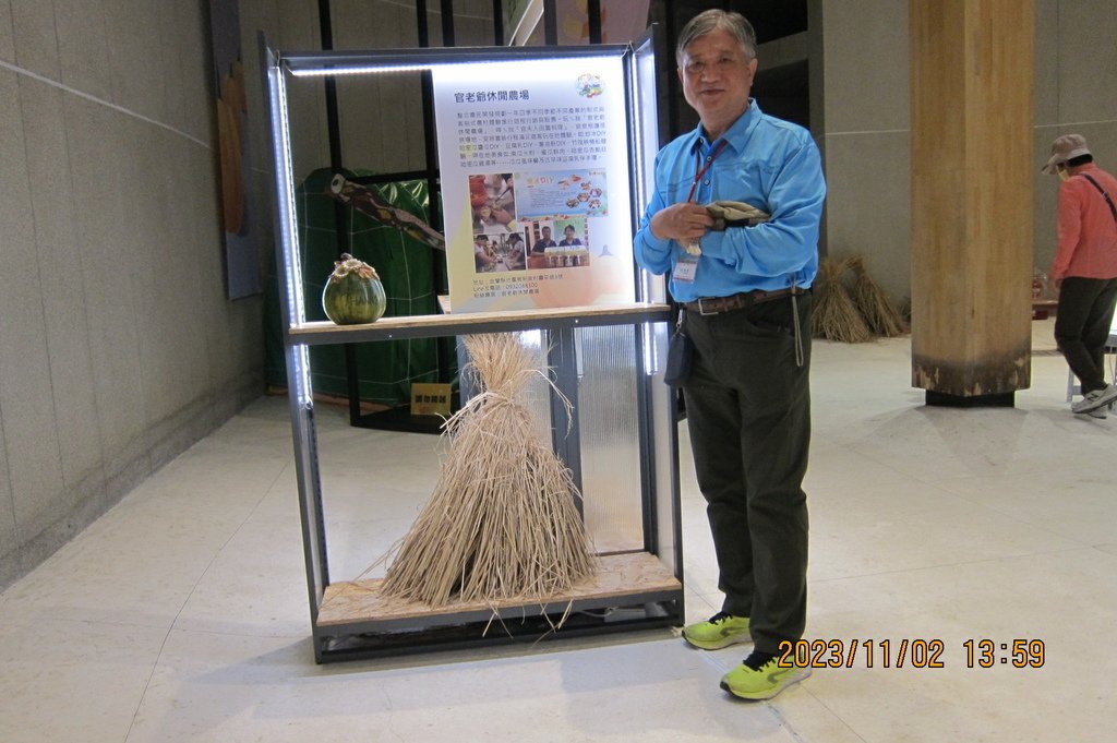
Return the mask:
<path id="1" fill-rule="evenodd" d="M 543 373 L 538 360 L 509 334 L 462 341 L 481 392 L 446 421 L 450 448 L 435 493 L 381 593 L 439 607 L 455 594 L 490 602 L 569 590 L 596 559 L 571 473 L 538 440 L 522 399 Z"/>

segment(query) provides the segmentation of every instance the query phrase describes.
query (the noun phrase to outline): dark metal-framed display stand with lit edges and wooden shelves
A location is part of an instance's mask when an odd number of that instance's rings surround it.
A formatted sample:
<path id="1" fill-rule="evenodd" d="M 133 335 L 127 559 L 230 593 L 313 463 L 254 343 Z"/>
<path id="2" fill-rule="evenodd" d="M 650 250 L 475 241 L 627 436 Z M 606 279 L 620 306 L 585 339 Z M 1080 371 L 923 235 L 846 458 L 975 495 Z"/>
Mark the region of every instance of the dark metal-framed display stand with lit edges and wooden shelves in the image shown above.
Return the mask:
<path id="1" fill-rule="evenodd" d="M 679 521 L 678 442 L 671 390 L 662 383 L 669 306 L 662 279 L 637 274 L 636 301 L 560 308 L 503 312 L 449 312 L 441 315 L 388 317 L 367 325 L 338 326 L 306 322 L 302 306 L 298 232 L 294 229 L 294 182 L 287 87 L 295 75 L 360 74 L 379 67 L 422 68 L 433 64 L 533 59 L 590 55 L 618 55 L 628 70 L 626 96 L 631 171 L 631 213 L 645 200 L 655 135 L 653 59 L 650 40 L 634 46 L 577 48 L 409 49 L 367 53 L 279 53 L 260 37 L 261 68 L 271 115 L 276 178 L 278 263 L 283 267 L 284 339 L 287 359 L 295 464 L 309 593 L 315 658 L 318 663 L 384 654 L 411 652 L 476 644 L 491 644 L 544 636 L 569 637 L 638 628 L 678 626 L 684 616 L 682 554 Z M 650 116 L 641 112 L 650 111 Z M 515 601 L 466 604 L 451 602 L 432 608 L 388 600 L 378 580 L 334 580 L 327 566 L 326 521 L 318 470 L 318 442 L 309 377 L 309 346 L 405 337 L 446 337 L 472 333 L 545 331 L 550 339 L 548 366 L 554 387 L 574 403 L 572 418 L 552 418 L 555 451 L 581 484 L 583 459 L 594 455 L 592 404 L 581 409 L 579 396 L 594 392 L 583 379 L 590 360 L 579 351 L 593 341 L 598 328 L 614 328 L 622 342 L 624 368 L 631 385 L 631 440 L 638 502 L 638 544 L 599 554 L 601 568 L 590 579 L 561 596 L 524 596 Z M 611 349 L 612 350 L 612 349 Z M 596 392 L 600 392 L 596 391 Z M 556 394 L 556 393 L 554 393 Z M 627 404 L 628 399 L 626 399 Z M 552 404 L 552 410 L 563 408 Z M 590 426 L 591 428 L 588 428 Z M 615 469 L 615 467 L 614 467 Z M 370 485 L 370 488 L 373 486 Z M 586 501 L 590 496 L 583 489 Z"/>

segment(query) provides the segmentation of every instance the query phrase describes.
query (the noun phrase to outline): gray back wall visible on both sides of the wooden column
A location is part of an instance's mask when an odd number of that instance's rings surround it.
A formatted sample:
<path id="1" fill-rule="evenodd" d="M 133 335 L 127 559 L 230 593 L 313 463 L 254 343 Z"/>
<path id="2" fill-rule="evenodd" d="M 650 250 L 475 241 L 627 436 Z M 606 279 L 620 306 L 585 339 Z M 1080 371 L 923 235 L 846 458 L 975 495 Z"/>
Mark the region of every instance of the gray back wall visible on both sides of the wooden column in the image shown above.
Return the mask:
<path id="1" fill-rule="evenodd" d="M 904 299 L 911 273 L 907 2 L 810 2 L 811 83 L 821 91 L 812 91 L 812 128 L 830 185 L 823 249 L 865 256 L 873 278 Z M 1111 0 L 1035 0 L 1033 250 L 1044 270 L 1054 254 L 1057 182 L 1039 169 L 1051 140 L 1079 132 L 1102 168 L 1117 168 L 1115 38 Z"/>

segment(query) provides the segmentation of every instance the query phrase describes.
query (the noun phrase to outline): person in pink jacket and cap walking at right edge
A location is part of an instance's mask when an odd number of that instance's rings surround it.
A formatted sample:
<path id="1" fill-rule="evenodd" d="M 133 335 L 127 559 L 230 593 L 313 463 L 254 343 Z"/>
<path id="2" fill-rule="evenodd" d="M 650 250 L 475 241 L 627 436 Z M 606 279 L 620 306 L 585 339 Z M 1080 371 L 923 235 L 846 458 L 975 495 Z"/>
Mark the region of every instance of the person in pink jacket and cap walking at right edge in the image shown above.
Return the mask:
<path id="1" fill-rule="evenodd" d="M 1043 172 L 1062 180 L 1051 278 L 1059 288 L 1054 340 L 1082 390 L 1071 410 L 1105 418 L 1117 400 L 1102 363 L 1117 303 L 1117 179 L 1094 164 L 1081 134 L 1057 137 Z"/>

